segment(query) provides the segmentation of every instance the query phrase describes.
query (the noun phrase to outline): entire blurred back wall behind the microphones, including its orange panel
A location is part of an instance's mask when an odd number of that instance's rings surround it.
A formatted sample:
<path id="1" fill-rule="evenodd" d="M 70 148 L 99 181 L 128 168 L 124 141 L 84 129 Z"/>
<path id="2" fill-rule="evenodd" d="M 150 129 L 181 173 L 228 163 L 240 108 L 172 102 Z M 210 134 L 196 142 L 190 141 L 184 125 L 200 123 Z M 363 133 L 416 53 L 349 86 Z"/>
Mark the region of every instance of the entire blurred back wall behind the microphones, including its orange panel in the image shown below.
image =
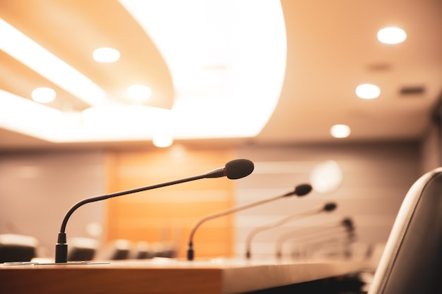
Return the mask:
<path id="1" fill-rule="evenodd" d="M 338 209 L 333 214 L 310 219 L 310 223 L 333 222 L 351 216 L 359 243 L 383 243 L 410 185 L 425 171 L 440 163 L 438 140 L 435 137 L 438 137 L 437 131 L 430 131 L 422 142 L 2 152 L 0 233 L 33 235 L 40 240 L 42 254 L 52 257 L 64 214 L 79 200 L 195 176 L 223 166 L 230 159 L 246 158 L 253 161 L 255 171 L 243 179 L 204 179 L 191 186 L 185 183 L 172 190 L 143 192 L 149 195 L 123 196 L 117 197 L 118 200 L 114 198 L 86 204 L 71 216 L 66 227 L 68 238 L 97 238 L 102 245 L 116 238 L 168 241 L 174 243 L 182 257 L 189 230 L 201 216 L 288 192 L 295 185 L 309 183 L 315 166 L 333 160 L 342 171 L 342 182 L 338 188 L 326 193 L 313 191 L 302 198 L 277 200 L 235 214 L 230 219 L 225 217 L 224 220 L 203 224 L 201 231 L 196 233 L 201 238 L 196 240 L 198 256 L 244 255 L 244 240 L 253 227 L 321 206 L 325 202 L 335 202 Z M 128 170 L 127 161 L 122 159 L 130 157 L 129 166 L 132 169 Z M 143 169 L 149 170 L 149 173 L 141 174 Z M 224 192 L 220 193 L 223 189 Z M 186 200 L 178 201 L 176 206 L 183 207 L 183 202 L 187 206 L 181 212 L 175 210 L 171 213 L 166 208 L 167 202 L 172 204 L 180 197 Z M 154 219 L 149 219 L 149 215 L 153 214 L 149 210 L 153 207 L 150 202 L 164 202 L 163 207 L 157 209 L 159 214 L 155 212 Z M 205 204 L 201 205 L 201 202 Z M 211 204 L 208 205 L 208 202 Z M 144 219 L 134 221 L 133 209 Z M 156 225 L 153 226 L 153 223 Z M 138 231 L 133 231 L 134 224 Z M 294 222 L 293 226 L 309 226 L 309 222 Z M 218 231 L 213 231 L 213 228 Z M 272 243 L 278 233 L 281 231 L 273 230 L 258 236 L 253 243 L 256 254 L 272 254 Z M 224 240 L 225 245 L 213 250 L 214 244 L 223 243 Z"/>

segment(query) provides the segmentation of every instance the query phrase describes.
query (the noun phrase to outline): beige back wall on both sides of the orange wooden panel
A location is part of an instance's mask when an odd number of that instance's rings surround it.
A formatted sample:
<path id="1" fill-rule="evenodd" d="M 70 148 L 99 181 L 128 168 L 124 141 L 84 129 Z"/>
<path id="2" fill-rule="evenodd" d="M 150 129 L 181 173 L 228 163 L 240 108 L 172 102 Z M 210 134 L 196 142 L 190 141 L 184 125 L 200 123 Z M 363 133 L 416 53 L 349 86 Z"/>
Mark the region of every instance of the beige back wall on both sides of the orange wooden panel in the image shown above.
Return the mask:
<path id="1" fill-rule="evenodd" d="M 324 160 L 337 161 L 344 176 L 335 192 L 325 195 L 312 192 L 303 198 L 277 200 L 236 214 L 234 242 L 240 256 L 244 254 L 244 240 L 251 228 L 329 201 L 338 204 L 334 221 L 343 216 L 354 218 L 359 242 L 383 242 L 402 198 L 421 173 L 419 146 L 410 142 L 344 146 L 251 145 L 239 147 L 232 154 L 251 159 L 256 166 L 251 176 L 234 181 L 237 205 L 280 195 L 294 185 L 309 182 L 313 166 Z M 162 169 L 165 167 L 156 164 Z M 115 192 L 107 185 L 110 176 L 106 166 L 106 153 L 101 151 L 0 154 L 0 233 L 35 235 L 47 255 L 52 256 L 66 211 L 85 197 Z M 107 202 L 80 207 L 66 227 L 68 238 L 88 236 L 88 223 L 104 223 L 105 217 L 109 217 L 105 214 L 106 207 Z M 330 219 L 323 216 L 323 220 Z M 316 221 L 321 223 L 321 218 Z M 308 226 L 313 222 L 305 223 Z M 273 240 L 275 235 L 258 235 L 253 243 L 254 252 L 273 254 Z"/>

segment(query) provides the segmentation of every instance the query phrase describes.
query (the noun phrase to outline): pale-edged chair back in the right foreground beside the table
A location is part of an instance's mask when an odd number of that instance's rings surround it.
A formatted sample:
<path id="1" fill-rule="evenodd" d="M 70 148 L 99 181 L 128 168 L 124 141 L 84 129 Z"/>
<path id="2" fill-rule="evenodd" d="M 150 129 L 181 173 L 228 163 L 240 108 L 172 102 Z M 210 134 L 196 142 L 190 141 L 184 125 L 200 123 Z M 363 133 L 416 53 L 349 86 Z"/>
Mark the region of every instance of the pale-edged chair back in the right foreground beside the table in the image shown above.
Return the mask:
<path id="1" fill-rule="evenodd" d="M 369 294 L 442 293 L 442 168 L 407 192 Z"/>

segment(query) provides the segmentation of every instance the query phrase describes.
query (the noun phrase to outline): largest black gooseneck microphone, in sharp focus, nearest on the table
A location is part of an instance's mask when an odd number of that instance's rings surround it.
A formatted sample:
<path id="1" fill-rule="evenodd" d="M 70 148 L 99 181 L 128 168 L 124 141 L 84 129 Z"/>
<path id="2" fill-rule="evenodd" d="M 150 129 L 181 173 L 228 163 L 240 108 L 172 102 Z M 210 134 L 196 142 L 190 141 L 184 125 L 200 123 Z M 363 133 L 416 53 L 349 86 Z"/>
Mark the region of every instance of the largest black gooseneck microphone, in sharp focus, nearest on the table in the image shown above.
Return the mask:
<path id="1" fill-rule="evenodd" d="M 83 206 L 86 203 L 96 202 L 100 200 L 106 200 L 112 197 L 117 197 L 121 195 L 128 195 L 135 192 L 141 192 L 145 190 L 152 190 L 155 188 L 162 188 L 169 185 L 175 185 L 179 183 L 190 182 L 191 180 L 199 180 L 202 178 L 222 178 L 227 176 L 227 178 L 231 180 L 237 180 L 239 178 L 244 178 L 245 176 L 249 176 L 254 169 L 253 162 L 249 159 L 234 159 L 232 161 L 227 162 L 224 167 L 219 169 L 213 169 L 212 171 L 208 171 L 200 176 L 193 176 L 190 178 L 183 178 L 181 180 L 172 180 L 170 182 L 160 183 L 156 185 L 149 185 L 141 188 L 135 188 L 131 190 L 124 190 L 121 192 L 114 192 L 111 194 L 99 195 L 95 197 L 89 197 L 85 200 L 81 200 L 76 203 L 68 210 L 66 215 L 64 216 L 63 222 L 61 223 L 60 233 L 58 235 L 57 243 L 55 245 L 55 263 L 66 263 L 68 259 L 68 245 L 66 243 L 66 224 L 68 222 L 69 217 L 73 212 L 78 209 L 78 207 Z"/>

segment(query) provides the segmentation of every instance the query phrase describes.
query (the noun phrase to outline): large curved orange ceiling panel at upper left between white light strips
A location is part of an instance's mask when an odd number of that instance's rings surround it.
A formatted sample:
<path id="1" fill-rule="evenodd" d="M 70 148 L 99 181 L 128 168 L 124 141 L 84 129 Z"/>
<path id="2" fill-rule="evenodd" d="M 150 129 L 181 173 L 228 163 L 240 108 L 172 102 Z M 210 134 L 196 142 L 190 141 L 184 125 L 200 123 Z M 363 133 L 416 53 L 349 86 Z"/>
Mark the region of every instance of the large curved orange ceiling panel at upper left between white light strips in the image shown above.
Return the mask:
<path id="1" fill-rule="evenodd" d="M 136 84 L 146 85 L 153 92 L 145 105 L 172 108 L 174 89 L 166 63 L 143 28 L 119 2 L 6 0 L 0 2 L 0 18 L 83 73 L 106 92 L 110 102 L 130 103 L 126 90 Z M 100 47 L 118 49 L 121 58 L 114 63 L 94 61 L 92 52 Z M 21 75 L 26 77 L 29 73 L 23 68 Z M 21 94 L 30 98 L 30 91 L 22 89 Z M 72 107 L 83 110 L 76 102 Z"/>

